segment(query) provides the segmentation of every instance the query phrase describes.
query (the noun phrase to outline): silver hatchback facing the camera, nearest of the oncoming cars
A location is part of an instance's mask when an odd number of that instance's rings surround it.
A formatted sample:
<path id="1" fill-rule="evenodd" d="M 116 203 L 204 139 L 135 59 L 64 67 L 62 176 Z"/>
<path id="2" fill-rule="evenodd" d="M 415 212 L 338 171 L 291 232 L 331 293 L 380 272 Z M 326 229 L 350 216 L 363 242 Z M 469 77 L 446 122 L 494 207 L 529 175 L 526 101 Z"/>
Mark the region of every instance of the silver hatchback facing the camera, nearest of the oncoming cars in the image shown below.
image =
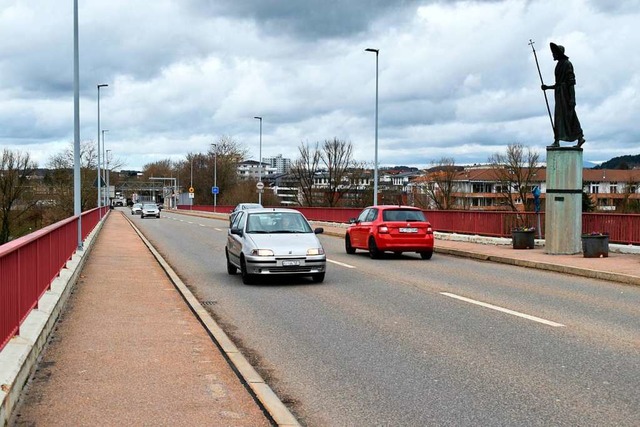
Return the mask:
<path id="1" fill-rule="evenodd" d="M 307 219 L 294 209 L 241 210 L 227 233 L 227 272 L 242 282 L 278 274 L 310 276 L 322 282 L 327 265 L 324 248 Z"/>

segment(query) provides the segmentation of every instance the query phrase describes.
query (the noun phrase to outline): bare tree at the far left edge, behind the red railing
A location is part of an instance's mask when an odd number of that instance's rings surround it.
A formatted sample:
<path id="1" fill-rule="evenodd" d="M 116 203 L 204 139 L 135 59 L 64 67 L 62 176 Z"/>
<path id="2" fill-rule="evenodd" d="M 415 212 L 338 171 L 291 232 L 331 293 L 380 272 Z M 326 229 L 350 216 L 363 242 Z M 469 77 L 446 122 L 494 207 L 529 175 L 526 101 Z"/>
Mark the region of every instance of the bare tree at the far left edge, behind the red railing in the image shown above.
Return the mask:
<path id="1" fill-rule="evenodd" d="M 31 161 L 28 153 L 20 151 L 2 150 L 0 163 L 0 244 L 11 239 L 11 232 L 15 222 L 25 215 L 33 201 L 27 201 L 29 192 L 28 176 L 36 165 Z"/>

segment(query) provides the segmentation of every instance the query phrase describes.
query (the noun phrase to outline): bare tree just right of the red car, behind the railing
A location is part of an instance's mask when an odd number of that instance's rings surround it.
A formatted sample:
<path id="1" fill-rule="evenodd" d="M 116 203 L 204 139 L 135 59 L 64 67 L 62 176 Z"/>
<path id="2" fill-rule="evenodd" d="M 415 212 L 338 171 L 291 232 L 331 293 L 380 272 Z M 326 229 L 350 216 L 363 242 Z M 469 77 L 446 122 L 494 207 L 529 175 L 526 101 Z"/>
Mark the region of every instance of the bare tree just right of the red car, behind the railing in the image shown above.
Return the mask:
<path id="1" fill-rule="evenodd" d="M 455 165 L 451 157 L 443 157 L 433 162 L 433 167 L 427 174 L 425 193 L 427 195 L 427 207 L 435 207 L 439 210 L 455 208 L 455 193 L 458 190 L 456 177 L 461 167 Z"/>

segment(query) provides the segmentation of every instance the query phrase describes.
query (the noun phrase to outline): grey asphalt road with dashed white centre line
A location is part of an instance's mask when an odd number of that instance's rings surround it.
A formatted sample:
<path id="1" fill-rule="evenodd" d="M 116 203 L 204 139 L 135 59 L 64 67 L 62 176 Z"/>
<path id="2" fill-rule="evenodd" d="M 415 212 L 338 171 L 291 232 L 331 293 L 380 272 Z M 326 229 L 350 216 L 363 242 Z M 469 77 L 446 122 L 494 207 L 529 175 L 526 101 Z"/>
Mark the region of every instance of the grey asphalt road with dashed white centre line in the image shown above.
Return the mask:
<path id="1" fill-rule="evenodd" d="M 326 280 L 246 286 L 227 222 L 132 217 L 300 422 L 640 425 L 640 288 L 322 236 Z"/>

